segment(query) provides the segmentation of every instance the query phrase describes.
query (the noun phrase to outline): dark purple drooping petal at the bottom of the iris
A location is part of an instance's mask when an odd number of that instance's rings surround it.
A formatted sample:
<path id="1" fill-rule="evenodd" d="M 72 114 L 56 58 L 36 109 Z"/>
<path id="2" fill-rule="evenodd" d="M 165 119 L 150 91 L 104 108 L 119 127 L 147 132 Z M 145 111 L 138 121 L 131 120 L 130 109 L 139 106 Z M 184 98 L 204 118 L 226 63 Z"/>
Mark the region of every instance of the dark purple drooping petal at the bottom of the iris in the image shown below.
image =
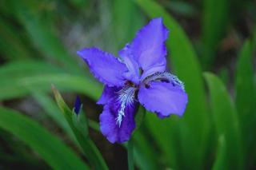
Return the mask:
<path id="1" fill-rule="evenodd" d="M 122 143 L 130 139 L 135 128 L 134 114 L 137 109 L 137 103 L 126 105 L 121 124 L 118 124 L 118 112 L 122 108 L 122 103 L 118 98 L 104 106 L 100 115 L 100 129 L 107 140 L 111 143 Z"/>

